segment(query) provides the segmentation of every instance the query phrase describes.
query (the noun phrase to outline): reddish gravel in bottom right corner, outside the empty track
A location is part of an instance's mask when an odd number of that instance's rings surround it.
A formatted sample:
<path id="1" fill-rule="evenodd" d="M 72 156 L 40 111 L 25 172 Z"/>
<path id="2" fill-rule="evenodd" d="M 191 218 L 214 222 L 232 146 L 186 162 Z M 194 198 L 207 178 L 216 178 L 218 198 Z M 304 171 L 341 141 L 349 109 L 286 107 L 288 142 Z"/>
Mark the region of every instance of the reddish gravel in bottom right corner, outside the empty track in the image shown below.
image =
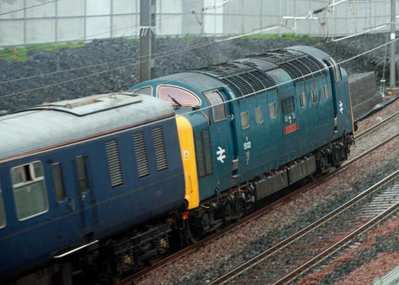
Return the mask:
<path id="1" fill-rule="evenodd" d="M 399 213 L 362 233 L 293 284 L 373 284 L 399 264 Z"/>

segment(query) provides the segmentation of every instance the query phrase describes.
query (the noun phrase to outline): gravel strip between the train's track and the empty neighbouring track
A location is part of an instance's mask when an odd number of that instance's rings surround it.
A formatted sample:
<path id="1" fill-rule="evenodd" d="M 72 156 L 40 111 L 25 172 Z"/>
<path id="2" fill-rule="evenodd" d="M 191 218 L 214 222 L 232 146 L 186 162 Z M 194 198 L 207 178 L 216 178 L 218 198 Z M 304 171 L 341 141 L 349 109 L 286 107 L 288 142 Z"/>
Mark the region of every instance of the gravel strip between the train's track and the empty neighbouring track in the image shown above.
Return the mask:
<path id="1" fill-rule="evenodd" d="M 398 107 L 398 104 L 394 102 L 392 107 L 360 122 L 360 128 L 368 124 L 368 120 L 388 117 L 391 109 L 395 105 Z M 367 144 L 371 147 L 373 142 L 364 140 L 359 146 Z M 299 194 L 292 201 L 212 241 L 178 262 L 151 273 L 138 284 L 209 283 L 328 214 L 393 172 L 399 162 L 397 144 L 398 139 L 388 143 L 322 185 Z"/>

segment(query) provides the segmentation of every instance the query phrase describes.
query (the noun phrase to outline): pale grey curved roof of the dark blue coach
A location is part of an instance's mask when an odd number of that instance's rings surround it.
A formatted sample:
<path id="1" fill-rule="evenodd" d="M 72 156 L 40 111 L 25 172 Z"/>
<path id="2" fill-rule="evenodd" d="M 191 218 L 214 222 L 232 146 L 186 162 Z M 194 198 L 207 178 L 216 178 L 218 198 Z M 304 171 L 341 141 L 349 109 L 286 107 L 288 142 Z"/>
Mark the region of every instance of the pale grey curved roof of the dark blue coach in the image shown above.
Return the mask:
<path id="1" fill-rule="evenodd" d="M 128 92 L 38 105 L 0 117 L 0 160 L 172 115 L 168 103 Z"/>

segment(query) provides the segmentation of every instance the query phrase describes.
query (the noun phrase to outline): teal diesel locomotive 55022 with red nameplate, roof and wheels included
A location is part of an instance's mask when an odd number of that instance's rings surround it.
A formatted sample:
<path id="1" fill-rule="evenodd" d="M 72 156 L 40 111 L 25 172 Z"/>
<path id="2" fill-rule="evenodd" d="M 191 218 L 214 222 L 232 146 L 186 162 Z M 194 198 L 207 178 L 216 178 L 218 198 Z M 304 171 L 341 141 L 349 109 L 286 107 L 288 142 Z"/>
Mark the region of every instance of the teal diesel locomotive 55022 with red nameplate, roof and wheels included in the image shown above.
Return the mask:
<path id="1" fill-rule="evenodd" d="M 238 219 L 254 200 L 338 167 L 353 142 L 347 74 L 312 47 L 249 55 L 131 90 L 151 90 L 192 125 L 202 207 L 188 209 L 199 234 Z"/>

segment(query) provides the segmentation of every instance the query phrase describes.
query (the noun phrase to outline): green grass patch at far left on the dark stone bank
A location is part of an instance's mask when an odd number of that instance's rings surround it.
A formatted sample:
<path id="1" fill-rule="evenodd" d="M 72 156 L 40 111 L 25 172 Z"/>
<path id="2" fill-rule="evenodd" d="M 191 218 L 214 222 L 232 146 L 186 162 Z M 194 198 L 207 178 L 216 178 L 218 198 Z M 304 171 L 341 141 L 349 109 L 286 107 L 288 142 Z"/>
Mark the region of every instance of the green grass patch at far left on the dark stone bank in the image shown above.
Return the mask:
<path id="1" fill-rule="evenodd" d="M 85 42 L 67 42 L 60 44 L 48 44 L 48 43 L 36 43 L 30 44 L 26 47 L 6 47 L 0 50 L 0 59 L 2 60 L 13 60 L 18 62 L 24 62 L 30 58 L 27 54 L 29 50 L 38 49 L 43 51 L 54 51 L 61 48 L 75 48 L 75 47 L 84 47 Z"/>

